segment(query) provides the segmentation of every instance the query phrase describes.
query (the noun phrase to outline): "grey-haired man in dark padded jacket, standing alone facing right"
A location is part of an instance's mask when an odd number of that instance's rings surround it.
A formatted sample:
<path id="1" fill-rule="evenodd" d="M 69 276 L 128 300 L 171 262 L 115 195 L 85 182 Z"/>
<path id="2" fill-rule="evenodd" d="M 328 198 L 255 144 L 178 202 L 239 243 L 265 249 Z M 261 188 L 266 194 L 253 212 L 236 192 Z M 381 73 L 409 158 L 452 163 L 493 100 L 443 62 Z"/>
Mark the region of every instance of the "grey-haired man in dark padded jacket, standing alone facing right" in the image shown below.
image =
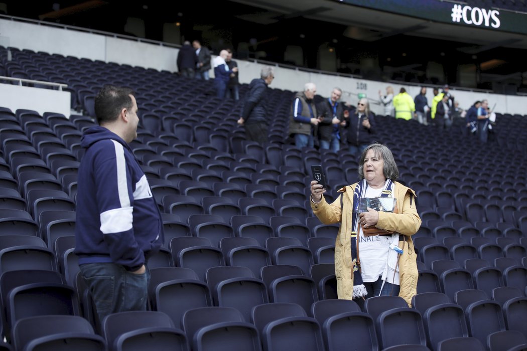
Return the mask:
<path id="1" fill-rule="evenodd" d="M 249 84 L 249 91 L 246 94 L 238 124 L 245 126 L 247 140 L 264 144 L 267 142 L 268 129 L 266 93 L 267 86 L 275 78 L 274 69 L 272 67 L 262 68 L 260 77 L 252 79 Z"/>

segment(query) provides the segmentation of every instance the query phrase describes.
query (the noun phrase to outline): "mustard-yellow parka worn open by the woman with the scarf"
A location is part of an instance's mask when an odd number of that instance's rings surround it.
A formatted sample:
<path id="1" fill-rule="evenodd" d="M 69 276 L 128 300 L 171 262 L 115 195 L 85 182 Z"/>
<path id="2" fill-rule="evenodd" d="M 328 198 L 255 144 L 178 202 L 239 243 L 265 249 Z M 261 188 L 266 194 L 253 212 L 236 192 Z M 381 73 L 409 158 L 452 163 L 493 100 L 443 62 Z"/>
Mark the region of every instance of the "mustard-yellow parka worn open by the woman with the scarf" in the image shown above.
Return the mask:
<path id="1" fill-rule="evenodd" d="M 335 242 L 335 275 L 337 278 L 337 294 L 341 299 L 353 298 L 353 266 L 352 232 L 353 193 L 357 183 L 340 189 L 342 193 L 343 208 L 340 208 L 340 196 L 331 204 L 324 198 L 319 203 L 311 202 L 313 213 L 324 224 L 340 223 Z M 408 306 L 412 304 L 412 296 L 417 294 L 417 255 L 411 235 L 415 234 L 421 226 L 421 218 L 415 207 L 414 190 L 394 182 L 394 197 L 397 199 L 398 213 L 379 212 L 376 227 L 390 232 L 402 234 L 399 236 L 399 247 L 403 254 L 399 257 L 399 296 L 404 298 Z M 360 249 L 360 248 L 359 248 Z"/>

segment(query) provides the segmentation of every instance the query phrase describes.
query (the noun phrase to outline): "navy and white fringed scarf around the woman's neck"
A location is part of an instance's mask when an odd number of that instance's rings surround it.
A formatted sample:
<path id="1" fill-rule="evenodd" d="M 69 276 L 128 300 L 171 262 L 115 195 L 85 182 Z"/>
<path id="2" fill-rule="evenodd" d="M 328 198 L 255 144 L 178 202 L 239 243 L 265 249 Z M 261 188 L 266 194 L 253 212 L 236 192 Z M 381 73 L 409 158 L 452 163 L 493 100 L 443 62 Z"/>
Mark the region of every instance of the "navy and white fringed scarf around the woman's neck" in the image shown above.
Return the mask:
<path id="1" fill-rule="evenodd" d="M 384 189 L 380 197 L 393 197 L 393 186 L 394 183 L 392 180 L 386 180 Z M 353 298 L 364 297 L 368 293 L 366 287 L 364 286 L 362 280 L 362 273 L 360 269 L 360 258 L 359 258 L 359 203 L 360 198 L 364 197 L 366 194 L 366 189 L 368 188 L 368 183 L 366 179 L 363 179 L 355 187 L 355 192 L 353 193 L 353 213 L 352 213 L 352 260 L 353 265 Z"/>

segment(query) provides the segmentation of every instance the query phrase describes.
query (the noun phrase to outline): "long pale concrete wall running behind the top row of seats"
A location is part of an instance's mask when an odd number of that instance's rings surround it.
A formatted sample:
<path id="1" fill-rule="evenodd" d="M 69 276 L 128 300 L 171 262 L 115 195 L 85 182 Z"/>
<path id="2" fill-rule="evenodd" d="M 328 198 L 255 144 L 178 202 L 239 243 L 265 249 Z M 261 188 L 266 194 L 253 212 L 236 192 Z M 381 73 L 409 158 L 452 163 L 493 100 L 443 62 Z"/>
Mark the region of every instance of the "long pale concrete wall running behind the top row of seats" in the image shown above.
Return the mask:
<path id="1" fill-rule="evenodd" d="M 154 68 L 159 71 L 177 71 L 177 47 L 167 46 L 159 42 L 143 42 L 134 38 L 123 38 L 111 33 L 83 32 L 67 26 L 56 27 L 43 22 L 28 23 L 9 19 L 0 19 L 0 45 L 18 49 L 31 49 L 50 54 L 89 58 L 104 62 L 115 62 L 144 68 Z M 356 104 L 357 95 L 362 93 L 370 99 L 372 111 L 382 113 L 383 107 L 378 103 L 378 91 L 385 92 L 388 85 L 392 85 L 397 93 L 401 87 L 415 96 L 419 93 L 419 85 L 401 82 L 377 82 L 359 79 L 349 75 L 335 75 L 320 71 L 307 71 L 291 66 L 274 63 L 237 60 L 240 68 L 241 83 L 249 83 L 251 79 L 259 77 L 261 67 L 275 66 L 275 80 L 271 87 L 299 91 L 307 82 L 317 85 L 317 93 L 329 96 L 333 87 L 343 89 L 343 99 Z M 213 75 L 213 72 L 211 71 Z M 527 114 L 525 96 L 492 94 L 486 91 L 464 90 L 451 88 L 460 107 L 467 109 L 476 100 L 488 99 L 489 106 L 496 104 L 495 111 L 510 114 Z M 428 87 L 428 102 L 433 98 L 432 87 Z"/>

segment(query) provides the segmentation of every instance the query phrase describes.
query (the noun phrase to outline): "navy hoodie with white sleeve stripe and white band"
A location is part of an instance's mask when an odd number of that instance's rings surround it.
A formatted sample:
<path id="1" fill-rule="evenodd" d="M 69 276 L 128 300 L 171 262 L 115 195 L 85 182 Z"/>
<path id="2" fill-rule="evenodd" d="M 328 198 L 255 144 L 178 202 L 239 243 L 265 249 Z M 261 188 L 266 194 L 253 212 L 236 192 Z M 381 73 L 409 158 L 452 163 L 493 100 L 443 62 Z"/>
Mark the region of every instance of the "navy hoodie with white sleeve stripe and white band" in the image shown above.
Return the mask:
<path id="1" fill-rule="evenodd" d="M 147 177 L 125 141 L 100 126 L 87 129 L 76 195 L 79 264 L 137 270 L 163 242 L 161 214 Z"/>

